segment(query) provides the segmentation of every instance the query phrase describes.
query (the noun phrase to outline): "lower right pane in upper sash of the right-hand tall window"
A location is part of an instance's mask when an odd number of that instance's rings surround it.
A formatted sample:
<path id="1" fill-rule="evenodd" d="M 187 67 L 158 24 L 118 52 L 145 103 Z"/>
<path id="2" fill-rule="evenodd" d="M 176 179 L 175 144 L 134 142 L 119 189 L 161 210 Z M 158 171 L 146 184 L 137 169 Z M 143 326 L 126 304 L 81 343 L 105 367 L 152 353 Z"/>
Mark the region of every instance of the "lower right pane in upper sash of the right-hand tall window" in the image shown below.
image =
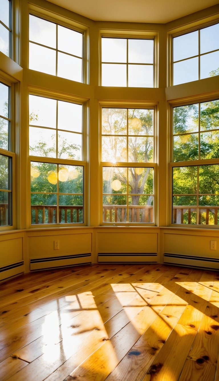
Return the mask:
<path id="1" fill-rule="evenodd" d="M 201 159 L 219 157 L 219 131 L 209 131 L 200 134 Z"/>

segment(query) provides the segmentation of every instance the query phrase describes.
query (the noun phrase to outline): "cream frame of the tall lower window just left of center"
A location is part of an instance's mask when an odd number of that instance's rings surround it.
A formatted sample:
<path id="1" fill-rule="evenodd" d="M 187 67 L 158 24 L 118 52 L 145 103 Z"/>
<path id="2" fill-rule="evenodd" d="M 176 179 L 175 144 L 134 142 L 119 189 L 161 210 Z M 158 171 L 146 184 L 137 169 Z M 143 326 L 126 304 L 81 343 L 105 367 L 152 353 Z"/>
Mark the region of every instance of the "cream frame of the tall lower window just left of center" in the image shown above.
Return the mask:
<path id="1" fill-rule="evenodd" d="M 87 99 L 84 98 L 76 98 L 72 96 L 63 96 L 58 93 L 51 93 L 49 91 L 39 91 L 35 88 L 29 88 L 29 95 L 41 96 L 43 98 L 55 99 L 58 101 L 66 101 L 75 104 L 82 105 L 82 160 L 73 160 L 73 159 L 64 159 L 64 158 L 48 158 L 42 156 L 34 156 L 29 155 L 29 125 L 28 125 L 28 133 L 27 133 L 27 141 L 28 141 L 28 191 L 27 191 L 27 199 L 28 199 L 28 225 L 30 229 L 36 228 L 57 228 L 57 227 L 80 227 L 87 226 L 88 221 L 88 213 L 87 213 L 87 205 L 88 205 L 88 104 Z M 28 102 L 28 120 L 29 120 L 29 102 Z M 30 167 L 31 162 L 41 162 L 41 163 L 51 163 L 56 165 L 75 165 L 83 167 L 83 223 L 56 223 L 56 224 L 32 224 L 31 221 L 31 191 L 30 191 Z M 58 194 L 58 192 L 57 192 Z M 57 213 L 58 213 L 58 205 Z"/>

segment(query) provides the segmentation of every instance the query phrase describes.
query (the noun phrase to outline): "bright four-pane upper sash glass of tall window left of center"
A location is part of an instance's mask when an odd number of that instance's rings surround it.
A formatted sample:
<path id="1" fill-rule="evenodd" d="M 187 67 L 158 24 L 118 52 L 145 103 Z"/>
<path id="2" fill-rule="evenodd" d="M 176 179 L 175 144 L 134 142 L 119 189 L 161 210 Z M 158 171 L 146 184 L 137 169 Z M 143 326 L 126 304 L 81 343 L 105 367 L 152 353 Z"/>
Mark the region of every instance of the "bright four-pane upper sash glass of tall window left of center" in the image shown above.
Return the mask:
<path id="1" fill-rule="evenodd" d="M 82 105 L 29 96 L 29 153 L 82 160 Z"/>

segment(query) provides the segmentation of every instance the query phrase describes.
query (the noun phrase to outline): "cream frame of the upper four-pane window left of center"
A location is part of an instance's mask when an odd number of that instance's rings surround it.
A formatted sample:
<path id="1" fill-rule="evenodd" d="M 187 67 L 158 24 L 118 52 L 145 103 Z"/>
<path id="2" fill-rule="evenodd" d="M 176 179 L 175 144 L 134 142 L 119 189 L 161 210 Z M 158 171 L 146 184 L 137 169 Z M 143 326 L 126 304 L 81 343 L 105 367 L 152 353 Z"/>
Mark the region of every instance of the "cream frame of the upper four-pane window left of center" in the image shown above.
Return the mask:
<path id="1" fill-rule="evenodd" d="M 29 13 L 28 13 L 28 47 L 27 47 L 27 67 L 29 69 L 29 44 L 30 44 L 30 39 L 29 39 L 29 30 L 30 30 L 30 25 L 29 25 L 29 19 L 30 19 L 30 15 L 32 16 L 35 16 L 35 17 L 38 17 L 40 19 L 43 19 L 45 21 L 49 21 L 49 22 L 52 22 L 53 24 L 56 25 L 56 29 L 57 29 L 57 26 L 60 25 L 60 26 L 63 26 L 67 29 L 71 29 L 75 32 L 79 32 L 82 34 L 82 81 L 81 82 L 77 82 L 77 81 L 73 81 L 73 82 L 76 82 L 76 83 L 84 83 L 84 84 L 89 84 L 89 32 L 88 32 L 88 28 L 83 25 L 83 24 L 78 24 L 76 23 L 75 21 L 71 20 L 71 19 L 68 19 L 68 22 L 67 22 L 67 19 L 61 15 L 56 15 L 57 17 L 54 18 L 54 14 L 50 13 L 49 11 L 42 11 L 42 10 L 39 10 L 39 8 L 35 5 L 32 5 L 32 4 L 29 4 Z M 32 42 L 38 46 L 45 46 L 46 48 L 49 48 L 51 50 L 54 50 L 56 51 L 56 73 L 57 73 L 57 53 L 58 53 L 58 48 L 57 48 L 57 41 L 56 41 L 56 48 L 51 48 L 49 46 L 46 46 L 46 45 L 41 45 L 39 43 L 35 43 L 35 42 Z M 63 52 L 65 53 L 65 52 Z M 65 53 L 67 55 L 70 55 L 70 56 L 74 56 L 72 54 L 68 54 L 68 53 Z M 33 70 L 33 69 L 29 69 L 29 70 Z M 51 74 L 47 74 L 47 73 L 43 73 L 43 72 L 40 72 L 40 71 L 37 71 L 38 73 L 42 73 L 44 75 L 51 75 Z M 63 78 L 63 77 L 58 77 L 58 75 L 54 75 L 54 77 L 57 77 L 57 78 L 61 78 L 62 80 L 70 80 L 70 79 L 67 79 L 67 78 Z"/>

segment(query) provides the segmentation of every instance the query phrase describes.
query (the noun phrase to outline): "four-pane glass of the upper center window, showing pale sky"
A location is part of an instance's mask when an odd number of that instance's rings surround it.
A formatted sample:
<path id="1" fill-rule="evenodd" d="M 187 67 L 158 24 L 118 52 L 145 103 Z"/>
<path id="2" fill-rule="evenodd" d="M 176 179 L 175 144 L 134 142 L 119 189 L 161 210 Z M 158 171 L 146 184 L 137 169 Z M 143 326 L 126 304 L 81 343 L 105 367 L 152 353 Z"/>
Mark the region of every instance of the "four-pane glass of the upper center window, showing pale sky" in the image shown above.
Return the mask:
<path id="1" fill-rule="evenodd" d="M 102 37 L 102 86 L 153 87 L 154 40 Z"/>

